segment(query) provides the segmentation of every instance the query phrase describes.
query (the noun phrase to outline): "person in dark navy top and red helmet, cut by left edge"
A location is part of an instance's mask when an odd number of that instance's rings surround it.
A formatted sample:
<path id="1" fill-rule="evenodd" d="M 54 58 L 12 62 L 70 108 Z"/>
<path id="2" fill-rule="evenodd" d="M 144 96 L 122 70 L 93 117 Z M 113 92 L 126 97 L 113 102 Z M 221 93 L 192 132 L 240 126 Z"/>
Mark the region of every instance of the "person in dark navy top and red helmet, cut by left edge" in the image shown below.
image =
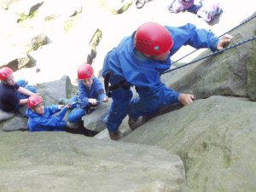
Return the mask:
<path id="1" fill-rule="evenodd" d="M 16 112 L 37 91 L 35 87 L 27 85 L 24 79 L 15 82 L 13 73 L 9 67 L 0 68 L 0 109 L 5 112 Z"/>

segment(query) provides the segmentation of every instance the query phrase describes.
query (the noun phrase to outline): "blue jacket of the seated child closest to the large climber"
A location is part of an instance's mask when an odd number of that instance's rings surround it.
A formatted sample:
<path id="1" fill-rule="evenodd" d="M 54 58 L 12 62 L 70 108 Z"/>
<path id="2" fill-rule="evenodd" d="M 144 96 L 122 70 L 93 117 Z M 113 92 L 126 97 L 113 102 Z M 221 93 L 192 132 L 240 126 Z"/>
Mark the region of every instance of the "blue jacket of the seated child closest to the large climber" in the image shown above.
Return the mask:
<path id="1" fill-rule="evenodd" d="M 79 101 L 84 102 L 84 107 L 89 105 L 88 99 L 94 98 L 97 101 L 102 101 L 106 97 L 104 88 L 99 79 L 94 78 L 90 89 L 86 87 L 81 80 L 79 80 Z"/>

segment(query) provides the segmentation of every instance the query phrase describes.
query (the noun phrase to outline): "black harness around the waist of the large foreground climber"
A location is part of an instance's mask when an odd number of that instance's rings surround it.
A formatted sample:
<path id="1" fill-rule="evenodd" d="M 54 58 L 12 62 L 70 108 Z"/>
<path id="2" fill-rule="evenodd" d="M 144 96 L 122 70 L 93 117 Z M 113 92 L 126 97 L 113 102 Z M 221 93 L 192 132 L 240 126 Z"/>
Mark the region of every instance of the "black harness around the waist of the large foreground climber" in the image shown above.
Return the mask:
<path id="1" fill-rule="evenodd" d="M 121 80 L 121 81 L 119 81 L 118 84 L 109 85 L 109 79 L 110 79 L 111 75 L 113 75 L 113 72 L 108 71 L 108 73 L 106 74 L 106 76 L 104 78 L 104 88 L 105 88 L 106 95 L 108 97 L 111 97 L 111 93 L 113 90 L 118 90 L 119 88 L 122 88 L 125 90 L 130 90 L 131 85 L 125 84 L 127 82 L 126 80 Z"/>

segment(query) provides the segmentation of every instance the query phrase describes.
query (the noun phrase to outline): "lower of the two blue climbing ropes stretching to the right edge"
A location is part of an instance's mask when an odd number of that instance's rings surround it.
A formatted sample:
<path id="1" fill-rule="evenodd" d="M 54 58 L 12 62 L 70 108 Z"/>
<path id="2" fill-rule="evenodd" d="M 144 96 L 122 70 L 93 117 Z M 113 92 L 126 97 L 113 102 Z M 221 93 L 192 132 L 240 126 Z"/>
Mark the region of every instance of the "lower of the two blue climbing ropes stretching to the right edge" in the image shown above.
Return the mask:
<path id="1" fill-rule="evenodd" d="M 170 69 L 170 70 L 167 70 L 167 71 L 164 72 L 164 73 L 169 73 L 169 72 L 172 72 L 172 71 L 177 70 L 177 69 L 179 69 L 179 68 L 189 66 L 189 65 L 191 65 L 191 64 L 193 64 L 193 63 L 195 63 L 195 62 L 197 62 L 197 61 L 204 60 L 204 59 L 206 59 L 206 58 L 208 58 L 208 57 L 211 57 L 212 55 L 218 55 L 218 54 L 223 53 L 224 51 L 226 51 L 226 50 L 228 50 L 228 49 L 236 48 L 237 46 L 239 46 L 239 45 L 241 45 L 241 44 L 246 44 L 247 42 L 253 41 L 253 40 L 255 40 L 255 39 L 256 39 L 256 36 L 254 36 L 254 37 L 252 37 L 252 38 L 248 38 L 248 39 L 246 39 L 246 40 L 244 40 L 244 41 L 241 41 L 241 42 L 239 42 L 239 43 L 230 45 L 229 47 L 226 47 L 225 49 L 218 50 L 218 51 L 216 51 L 216 52 L 214 52 L 214 53 L 212 53 L 212 54 L 203 56 L 203 57 L 201 57 L 200 59 L 197 59 L 197 60 L 195 60 L 195 61 L 191 61 L 191 62 L 189 62 L 189 63 L 186 63 L 186 64 L 184 64 L 183 66 L 179 66 L 179 67 L 175 67 L 175 68 L 172 68 L 172 69 Z M 164 74 L 164 73 L 161 73 L 161 74 Z"/>

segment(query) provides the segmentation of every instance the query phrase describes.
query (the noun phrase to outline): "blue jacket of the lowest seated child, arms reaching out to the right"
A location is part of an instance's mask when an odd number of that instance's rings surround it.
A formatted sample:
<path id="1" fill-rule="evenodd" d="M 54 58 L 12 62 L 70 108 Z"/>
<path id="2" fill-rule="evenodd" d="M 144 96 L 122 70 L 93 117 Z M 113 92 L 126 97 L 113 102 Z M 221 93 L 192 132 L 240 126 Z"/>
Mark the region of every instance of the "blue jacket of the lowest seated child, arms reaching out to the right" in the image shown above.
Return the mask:
<path id="1" fill-rule="evenodd" d="M 33 112 L 30 108 L 26 109 L 28 117 L 27 128 L 29 131 L 65 131 L 67 123 L 63 120 L 67 107 L 61 109 L 61 112 L 54 116 L 53 114 L 59 112 L 58 105 L 51 105 L 44 107 L 44 114 Z"/>

